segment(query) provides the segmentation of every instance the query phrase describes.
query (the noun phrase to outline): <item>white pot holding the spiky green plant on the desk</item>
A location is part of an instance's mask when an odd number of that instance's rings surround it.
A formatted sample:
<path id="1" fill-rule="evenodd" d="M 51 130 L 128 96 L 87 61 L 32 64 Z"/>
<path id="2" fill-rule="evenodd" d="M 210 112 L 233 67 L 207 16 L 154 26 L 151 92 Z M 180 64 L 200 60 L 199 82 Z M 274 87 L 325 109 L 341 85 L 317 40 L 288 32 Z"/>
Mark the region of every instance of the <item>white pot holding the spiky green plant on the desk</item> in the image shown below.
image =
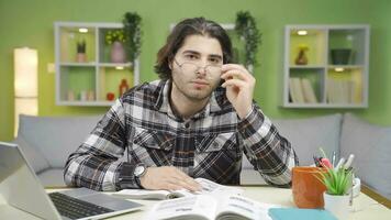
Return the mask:
<path id="1" fill-rule="evenodd" d="M 349 195 L 337 196 L 323 193 L 324 209 L 332 212 L 338 219 L 347 219 L 349 215 Z"/>

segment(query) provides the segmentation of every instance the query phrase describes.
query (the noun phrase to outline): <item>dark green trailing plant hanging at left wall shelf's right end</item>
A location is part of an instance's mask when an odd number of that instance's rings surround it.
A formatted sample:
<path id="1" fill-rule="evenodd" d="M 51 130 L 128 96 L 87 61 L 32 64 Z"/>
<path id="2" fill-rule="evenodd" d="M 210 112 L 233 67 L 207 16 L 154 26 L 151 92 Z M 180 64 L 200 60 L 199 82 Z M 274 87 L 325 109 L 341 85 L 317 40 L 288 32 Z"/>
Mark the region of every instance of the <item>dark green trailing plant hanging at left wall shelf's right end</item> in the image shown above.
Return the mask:
<path id="1" fill-rule="evenodd" d="M 127 57 L 131 62 L 136 59 L 141 53 L 142 46 L 142 30 L 141 30 L 142 18 L 136 13 L 126 12 L 122 20 L 123 32 L 126 36 L 125 47 Z"/>

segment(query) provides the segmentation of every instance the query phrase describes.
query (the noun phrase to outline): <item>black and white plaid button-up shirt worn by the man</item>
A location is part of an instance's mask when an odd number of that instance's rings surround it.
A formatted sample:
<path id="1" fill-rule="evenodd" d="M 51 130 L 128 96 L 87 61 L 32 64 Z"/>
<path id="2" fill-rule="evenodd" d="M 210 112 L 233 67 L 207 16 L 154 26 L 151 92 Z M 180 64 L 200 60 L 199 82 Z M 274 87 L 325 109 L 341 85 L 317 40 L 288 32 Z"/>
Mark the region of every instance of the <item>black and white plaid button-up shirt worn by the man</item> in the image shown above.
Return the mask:
<path id="1" fill-rule="evenodd" d="M 189 176 L 239 184 L 243 152 L 266 182 L 289 186 L 298 158 L 290 143 L 253 105 L 241 120 L 219 87 L 206 107 L 187 121 L 169 105 L 170 81 L 143 84 L 122 96 L 79 148 L 64 178 L 96 190 L 137 188 L 134 168 L 175 166 Z M 127 148 L 129 155 L 123 157 Z M 126 162 L 127 161 L 127 162 Z"/>

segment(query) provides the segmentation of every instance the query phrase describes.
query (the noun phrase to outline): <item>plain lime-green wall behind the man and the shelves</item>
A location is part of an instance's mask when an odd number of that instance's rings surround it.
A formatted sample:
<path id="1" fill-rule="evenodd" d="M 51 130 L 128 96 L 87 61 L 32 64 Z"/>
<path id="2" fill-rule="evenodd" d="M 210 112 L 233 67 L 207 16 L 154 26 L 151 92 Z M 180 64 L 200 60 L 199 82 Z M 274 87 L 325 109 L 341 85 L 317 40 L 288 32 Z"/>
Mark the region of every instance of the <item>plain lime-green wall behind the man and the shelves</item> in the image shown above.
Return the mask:
<path id="1" fill-rule="evenodd" d="M 55 106 L 55 21 L 121 22 L 127 11 L 143 18 L 141 80 L 157 78 L 153 65 L 168 26 L 183 18 L 203 15 L 221 23 L 234 22 L 239 10 L 249 10 L 262 33 L 255 99 L 271 118 L 304 118 L 351 111 L 378 124 L 391 124 L 391 3 L 388 0 L 0 0 L 0 140 L 13 138 L 13 58 L 15 47 L 38 50 L 40 116 L 103 113 L 108 108 Z M 281 103 L 283 26 L 286 24 L 371 25 L 369 108 L 283 109 Z"/>

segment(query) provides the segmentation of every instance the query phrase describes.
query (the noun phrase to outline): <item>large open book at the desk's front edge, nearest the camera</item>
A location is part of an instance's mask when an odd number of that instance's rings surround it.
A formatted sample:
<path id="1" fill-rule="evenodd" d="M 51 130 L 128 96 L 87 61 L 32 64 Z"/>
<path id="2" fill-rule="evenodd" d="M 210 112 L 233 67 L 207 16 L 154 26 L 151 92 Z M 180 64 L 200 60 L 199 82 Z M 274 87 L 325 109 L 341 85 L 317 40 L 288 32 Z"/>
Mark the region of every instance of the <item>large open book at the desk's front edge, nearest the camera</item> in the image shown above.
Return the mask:
<path id="1" fill-rule="evenodd" d="M 268 210 L 277 207 L 275 205 L 259 204 L 237 195 L 220 198 L 198 195 L 160 201 L 147 213 L 146 219 L 271 220 Z"/>

